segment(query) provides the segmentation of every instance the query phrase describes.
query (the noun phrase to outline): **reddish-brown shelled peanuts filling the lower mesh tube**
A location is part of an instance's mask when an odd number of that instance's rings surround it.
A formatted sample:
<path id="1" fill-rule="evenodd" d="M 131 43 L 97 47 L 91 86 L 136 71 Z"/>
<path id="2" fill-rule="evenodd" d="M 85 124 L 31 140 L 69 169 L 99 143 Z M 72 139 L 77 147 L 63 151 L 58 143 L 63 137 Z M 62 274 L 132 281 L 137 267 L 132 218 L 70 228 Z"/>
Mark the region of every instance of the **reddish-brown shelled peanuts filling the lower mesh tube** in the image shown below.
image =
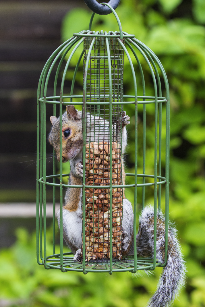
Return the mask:
<path id="1" fill-rule="evenodd" d="M 112 143 L 112 184 L 122 185 L 120 144 Z M 86 144 L 86 185 L 110 185 L 110 143 Z M 86 260 L 110 258 L 110 210 L 112 210 L 113 258 L 121 258 L 122 188 L 86 190 Z M 110 208 L 111 206 L 111 208 Z M 81 251 L 82 253 L 82 251 Z"/>

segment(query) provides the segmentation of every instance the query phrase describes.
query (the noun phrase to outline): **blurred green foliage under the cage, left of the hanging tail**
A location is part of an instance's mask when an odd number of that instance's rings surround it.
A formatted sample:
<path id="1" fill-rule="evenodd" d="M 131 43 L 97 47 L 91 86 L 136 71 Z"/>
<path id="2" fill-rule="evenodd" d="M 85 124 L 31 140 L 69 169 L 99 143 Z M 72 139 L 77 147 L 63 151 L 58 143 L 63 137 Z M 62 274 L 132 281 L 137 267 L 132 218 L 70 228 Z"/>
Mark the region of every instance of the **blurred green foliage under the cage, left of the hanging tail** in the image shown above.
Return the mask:
<path id="1" fill-rule="evenodd" d="M 47 235 L 49 252 L 49 231 Z M 13 247 L 0 252 L 0 305 L 6 301 L 6 306 L 13 307 L 140 307 L 155 290 L 161 271 L 158 268 L 157 277 L 142 274 L 140 278 L 130 273 L 63 274 L 39 266 L 35 252 L 35 234 L 29 236 L 23 229 L 17 230 Z"/>

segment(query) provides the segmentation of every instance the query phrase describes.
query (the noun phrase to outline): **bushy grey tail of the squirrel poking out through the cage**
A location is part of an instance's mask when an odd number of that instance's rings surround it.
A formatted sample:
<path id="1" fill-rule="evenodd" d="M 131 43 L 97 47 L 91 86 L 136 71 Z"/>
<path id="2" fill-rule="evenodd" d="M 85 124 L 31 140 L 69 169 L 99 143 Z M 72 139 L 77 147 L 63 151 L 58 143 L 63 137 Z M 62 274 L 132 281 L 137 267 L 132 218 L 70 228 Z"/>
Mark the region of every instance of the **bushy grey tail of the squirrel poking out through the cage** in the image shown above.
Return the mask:
<path id="1" fill-rule="evenodd" d="M 149 307 L 168 307 L 184 285 L 185 266 L 176 238 L 177 230 L 168 225 L 168 259 L 163 268 L 158 288 L 149 301 Z M 137 254 L 142 257 L 153 257 L 154 246 L 154 208 L 145 207 L 140 216 L 137 233 Z M 164 263 L 165 217 L 157 212 L 157 260 Z"/>

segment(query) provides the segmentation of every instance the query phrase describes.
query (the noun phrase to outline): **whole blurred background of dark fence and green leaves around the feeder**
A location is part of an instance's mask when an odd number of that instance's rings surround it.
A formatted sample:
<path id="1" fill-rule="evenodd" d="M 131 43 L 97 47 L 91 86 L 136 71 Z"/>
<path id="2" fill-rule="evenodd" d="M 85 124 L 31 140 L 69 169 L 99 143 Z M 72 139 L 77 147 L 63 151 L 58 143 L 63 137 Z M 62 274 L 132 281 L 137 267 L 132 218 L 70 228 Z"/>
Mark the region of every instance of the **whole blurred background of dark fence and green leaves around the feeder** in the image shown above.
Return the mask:
<path id="1" fill-rule="evenodd" d="M 108 1 L 106 1 L 108 2 Z M 135 34 L 161 60 L 170 85 L 170 214 L 186 260 L 186 286 L 174 307 L 205 306 L 205 2 L 121 0 L 122 29 Z M 45 270 L 35 259 L 36 95 L 41 70 L 72 33 L 88 28 L 91 11 L 83 0 L 0 1 L 0 307 L 144 307 L 157 287 L 151 276 L 87 274 Z M 113 15 L 95 16 L 94 30 L 118 30 Z M 75 59 L 74 59 L 75 60 Z M 147 95 L 153 93 L 143 59 Z M 72 65 L 72 63 L 71 63 Z M 82 70 L 82 67 L 80 68 Z M 138 76 L 138 75 L 137 75 Z M 70 89 L 71 76 L 65 87 Z M 77 75 L 82 93 L 82 74 Z M 124 93 L 132 95 L 127 60 Z M 77 93 L 76 92 L 76 93 Z M 142 89 L 139 85 L 138 95 Z M 134 110 L 125 161 L 134 166 Z M 164 109 L 163 109 L 164 112 Z M 147 105 L 146 173 L 153 173 L 154 109 Z M 52 114 L 51 114 L 52 115 Z M 164 115 L 164 113 L 163 113 Z M 139 107 L 139 173 L 142 169 L 142 109 Z M 164 127 L 162 137 L 164 142 Z M 50 124 L 48 121 L 48 131 Z M 164 143 L 163 143 L 164 144 Z M 49 152 L 52 148 L 48 147 Z M 163 149 L 164 150 L 164 149 Z M 64 164 L 68 165 L 68 164 Z M 65 172 L 67 166 L 65 166 Z M 49 172 L 49 164 L 48 164 Z M 162 176 L 164 160 L 162 160 Z M 48 205 L 51 197 L 48 191 Z M 133 203 L 133 191 L 126 196 Z M 138 191 L 138 209 L 141 191 Z M 50 198 L 49 198 L 50 197 Z M 153 188 L 146 204 L 153 203 Z M 162 189 L 162 209 L 164 189 Z M 49 212 L 48 212 L 49 213 Z M 49 215 L 49 214 L 48 214 Z M 48 219 L 49 221 L 49 219 Z M 49 225 L 49 222 L 48 222 Z M 48 251 L 52 249 L 48 229 Z"/>

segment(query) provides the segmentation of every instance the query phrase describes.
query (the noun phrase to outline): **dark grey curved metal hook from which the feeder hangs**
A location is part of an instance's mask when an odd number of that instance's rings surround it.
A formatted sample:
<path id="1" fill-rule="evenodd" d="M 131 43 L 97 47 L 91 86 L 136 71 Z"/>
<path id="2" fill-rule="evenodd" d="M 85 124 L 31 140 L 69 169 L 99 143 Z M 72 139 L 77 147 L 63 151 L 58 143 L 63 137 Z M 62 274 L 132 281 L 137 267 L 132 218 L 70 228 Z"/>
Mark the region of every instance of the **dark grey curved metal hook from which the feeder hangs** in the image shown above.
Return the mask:
<path id="1" fill-rule="evenodd" d="M 99 15 L 108 15 L 112 13 L 110 8 L 108 6 L 102 5 L 98 3 L 96 0 L 84 0 L 86 5 L 91 9 L 94 13 Z M 115 10 L 118 7 L 118 4 L 120 3 L 120 0 L 110 0 L 108 4 L 113 7 Z"/>

